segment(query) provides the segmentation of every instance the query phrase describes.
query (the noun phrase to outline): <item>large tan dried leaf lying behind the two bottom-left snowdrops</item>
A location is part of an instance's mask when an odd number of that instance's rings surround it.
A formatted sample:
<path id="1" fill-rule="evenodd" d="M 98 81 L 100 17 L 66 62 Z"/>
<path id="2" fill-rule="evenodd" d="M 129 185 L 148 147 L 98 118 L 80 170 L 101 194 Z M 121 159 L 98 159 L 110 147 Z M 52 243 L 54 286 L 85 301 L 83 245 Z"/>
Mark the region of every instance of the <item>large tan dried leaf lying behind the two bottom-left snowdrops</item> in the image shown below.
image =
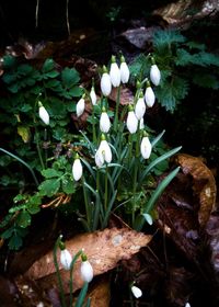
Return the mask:
<path id="1" fill-rule="evenodd" d="M 128 228 L 111 228 L 92 234 L 82 234 L 73 239 L 66 241 L 67 249 L 76 254 L 84 249 L 94 271 L 94 275 L 103 274 L 117 265 L 123 259 L 129 259 L 137 253 L 141 247 L 145 247 L 151 240 L 151 236 L 130 230 Z M 59 259 L 59 253 L 58 253 Z M 80 263 L 78 260 L 73 271 L 73 291 L 80 288 L 83 284 L 80 277 Z M 60 274 L 64 281 L 65 292 L 69 292 L 69 272 L 60 266 Z M 36 261 L 25 275 L 37 281 L 43 289 L 57 287 L 57 277 L 54 266 L 53 251 L 45 254 Z"/>

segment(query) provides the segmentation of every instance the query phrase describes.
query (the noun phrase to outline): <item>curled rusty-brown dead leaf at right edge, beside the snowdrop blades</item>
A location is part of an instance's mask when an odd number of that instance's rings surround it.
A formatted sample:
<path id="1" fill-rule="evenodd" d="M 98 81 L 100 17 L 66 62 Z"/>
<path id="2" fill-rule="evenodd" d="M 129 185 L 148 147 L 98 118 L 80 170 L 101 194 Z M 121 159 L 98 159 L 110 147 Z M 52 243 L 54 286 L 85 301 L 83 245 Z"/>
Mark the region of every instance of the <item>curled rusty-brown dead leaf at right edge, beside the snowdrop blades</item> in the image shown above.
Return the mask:
<path id="1" fill-rule="evenodd" d="M 198 221 L 201 227 L 206 225 L 212 211 L 216 209 L 216 181 L 211 171 L 199 159 L 189 155 L 181 154 L 176 157 L 185 174 L 193 178 L 194 196 L 198 198 Z"/>

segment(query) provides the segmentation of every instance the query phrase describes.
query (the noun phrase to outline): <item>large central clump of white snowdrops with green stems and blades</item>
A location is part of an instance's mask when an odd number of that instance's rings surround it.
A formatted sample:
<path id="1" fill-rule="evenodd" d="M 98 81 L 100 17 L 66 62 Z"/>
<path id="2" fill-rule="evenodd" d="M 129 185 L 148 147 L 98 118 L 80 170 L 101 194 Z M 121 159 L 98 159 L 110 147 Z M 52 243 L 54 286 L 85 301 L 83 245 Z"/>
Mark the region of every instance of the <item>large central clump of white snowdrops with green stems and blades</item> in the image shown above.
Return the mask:
<path id="1" fill-rule="evenodd" d="M 136 82 L 134 100 L 120 104 L 120 90 L 129 81 L 129 68 L 124 56 L 119 65 L 112 56 L 108 69 L 103 66 L 97 98 L 94 81 L 76 105 L 77 116 L 92 105 L 88 118 L 90 130 L 81 130 L 72 163 L 73 180 L 83 190 L 84 212 L 79 218 L 88 231 L 107 226 L 112 213 L 122 214 L 135 229 L 140 230 L 147 221 L 153 221 L 155 201 L 175 177 L 173 170 L 155 190 L 150 189 L 153 169 L 177 152 L 181 147 L 151 159 L 151 152 L 164 132 L 153 137 L 145 123 L 145 114 L 155 102 L 152 89 L 160 84 L 161 72 L 151 57 L 150 76 Z M 99 84 L 96 84 L 97 88 Z M 110 107 L 112 89 L 117 91 L 115 107 Z M 43 107 L 41 105 L 41 107 Z M 42 120 L 48 123 L 45 110 Z"/>

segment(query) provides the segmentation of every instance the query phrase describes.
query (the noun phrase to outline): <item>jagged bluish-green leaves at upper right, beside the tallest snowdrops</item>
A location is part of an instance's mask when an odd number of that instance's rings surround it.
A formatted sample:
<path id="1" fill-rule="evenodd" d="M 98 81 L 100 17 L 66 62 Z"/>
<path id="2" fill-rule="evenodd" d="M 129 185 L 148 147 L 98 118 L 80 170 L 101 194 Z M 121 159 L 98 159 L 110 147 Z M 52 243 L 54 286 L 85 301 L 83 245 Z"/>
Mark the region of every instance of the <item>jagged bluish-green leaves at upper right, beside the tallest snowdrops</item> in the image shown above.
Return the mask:
<path id="1" fill-rule="evenodd" d="M 152 39 L 153 57 L 161 70 L 161 83 L 154 89 L 158 102 L 174 112 L 193 84 L 218 90 L 219 57 L 203 44 L 188 41 L 177 31 L 157 31 Z M 150 57 L 139 55 L 131 64 L 131 73 L 143 80 L 149 76 Z"/>

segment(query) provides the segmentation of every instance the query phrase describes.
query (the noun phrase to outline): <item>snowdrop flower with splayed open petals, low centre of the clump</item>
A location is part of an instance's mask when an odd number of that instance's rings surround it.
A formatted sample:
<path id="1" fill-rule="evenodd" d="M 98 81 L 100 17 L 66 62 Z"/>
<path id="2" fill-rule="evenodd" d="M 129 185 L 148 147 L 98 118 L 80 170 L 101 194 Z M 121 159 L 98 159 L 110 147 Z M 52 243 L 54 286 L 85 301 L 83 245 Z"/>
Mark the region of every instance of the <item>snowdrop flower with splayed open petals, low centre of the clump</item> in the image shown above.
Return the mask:
<path id="1" fill-rule="evenodd" d="M 106 163 L 111 163 L 112 161 L 112 150 L 108 145 L 108 143 L 105 139 L 105 136 L 101 136 L 101 144 L 99 146 L 99 149 L 95 154 L 95 163 L 97 168 L 101 168 L 104 164 L 104 161 Z"/>

